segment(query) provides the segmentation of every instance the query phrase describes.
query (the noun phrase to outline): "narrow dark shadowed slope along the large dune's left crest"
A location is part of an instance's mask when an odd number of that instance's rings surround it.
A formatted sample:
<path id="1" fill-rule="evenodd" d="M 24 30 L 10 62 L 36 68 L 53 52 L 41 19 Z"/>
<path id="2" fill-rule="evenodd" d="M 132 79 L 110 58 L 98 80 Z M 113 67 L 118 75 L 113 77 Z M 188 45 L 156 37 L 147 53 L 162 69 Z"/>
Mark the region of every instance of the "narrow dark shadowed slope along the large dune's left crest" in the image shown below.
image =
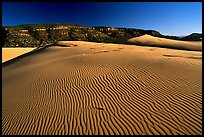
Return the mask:
<path id="1" fill-rule="evenodd" d="M 62 45 L 62 44 L 58 44 L 58 43 L 54 43 L 54 44 L 50 44 L 50 45 L 45 45 L 43 47 L 37 47 L 36 49 L 34 49 L 34 50 L 32 50 L 32 51 L 30 51 L 28 53 L 25 53 L 23 55 L 20 55 L 20 56 L 17 56 L 15 58 L 13 58 L 13 59 L 5 61 L 4 63 L 2 63 L 2 67 L 8 66 L 10 64 L 13 64 L 13 63 L 19 61 L 20 59 L 26 58 L 28 56 L 42 53 L 46 48 L 49 48 L 49 47 L 52 47 L 52 46 L 71 47 L 71 45 Z"/>

